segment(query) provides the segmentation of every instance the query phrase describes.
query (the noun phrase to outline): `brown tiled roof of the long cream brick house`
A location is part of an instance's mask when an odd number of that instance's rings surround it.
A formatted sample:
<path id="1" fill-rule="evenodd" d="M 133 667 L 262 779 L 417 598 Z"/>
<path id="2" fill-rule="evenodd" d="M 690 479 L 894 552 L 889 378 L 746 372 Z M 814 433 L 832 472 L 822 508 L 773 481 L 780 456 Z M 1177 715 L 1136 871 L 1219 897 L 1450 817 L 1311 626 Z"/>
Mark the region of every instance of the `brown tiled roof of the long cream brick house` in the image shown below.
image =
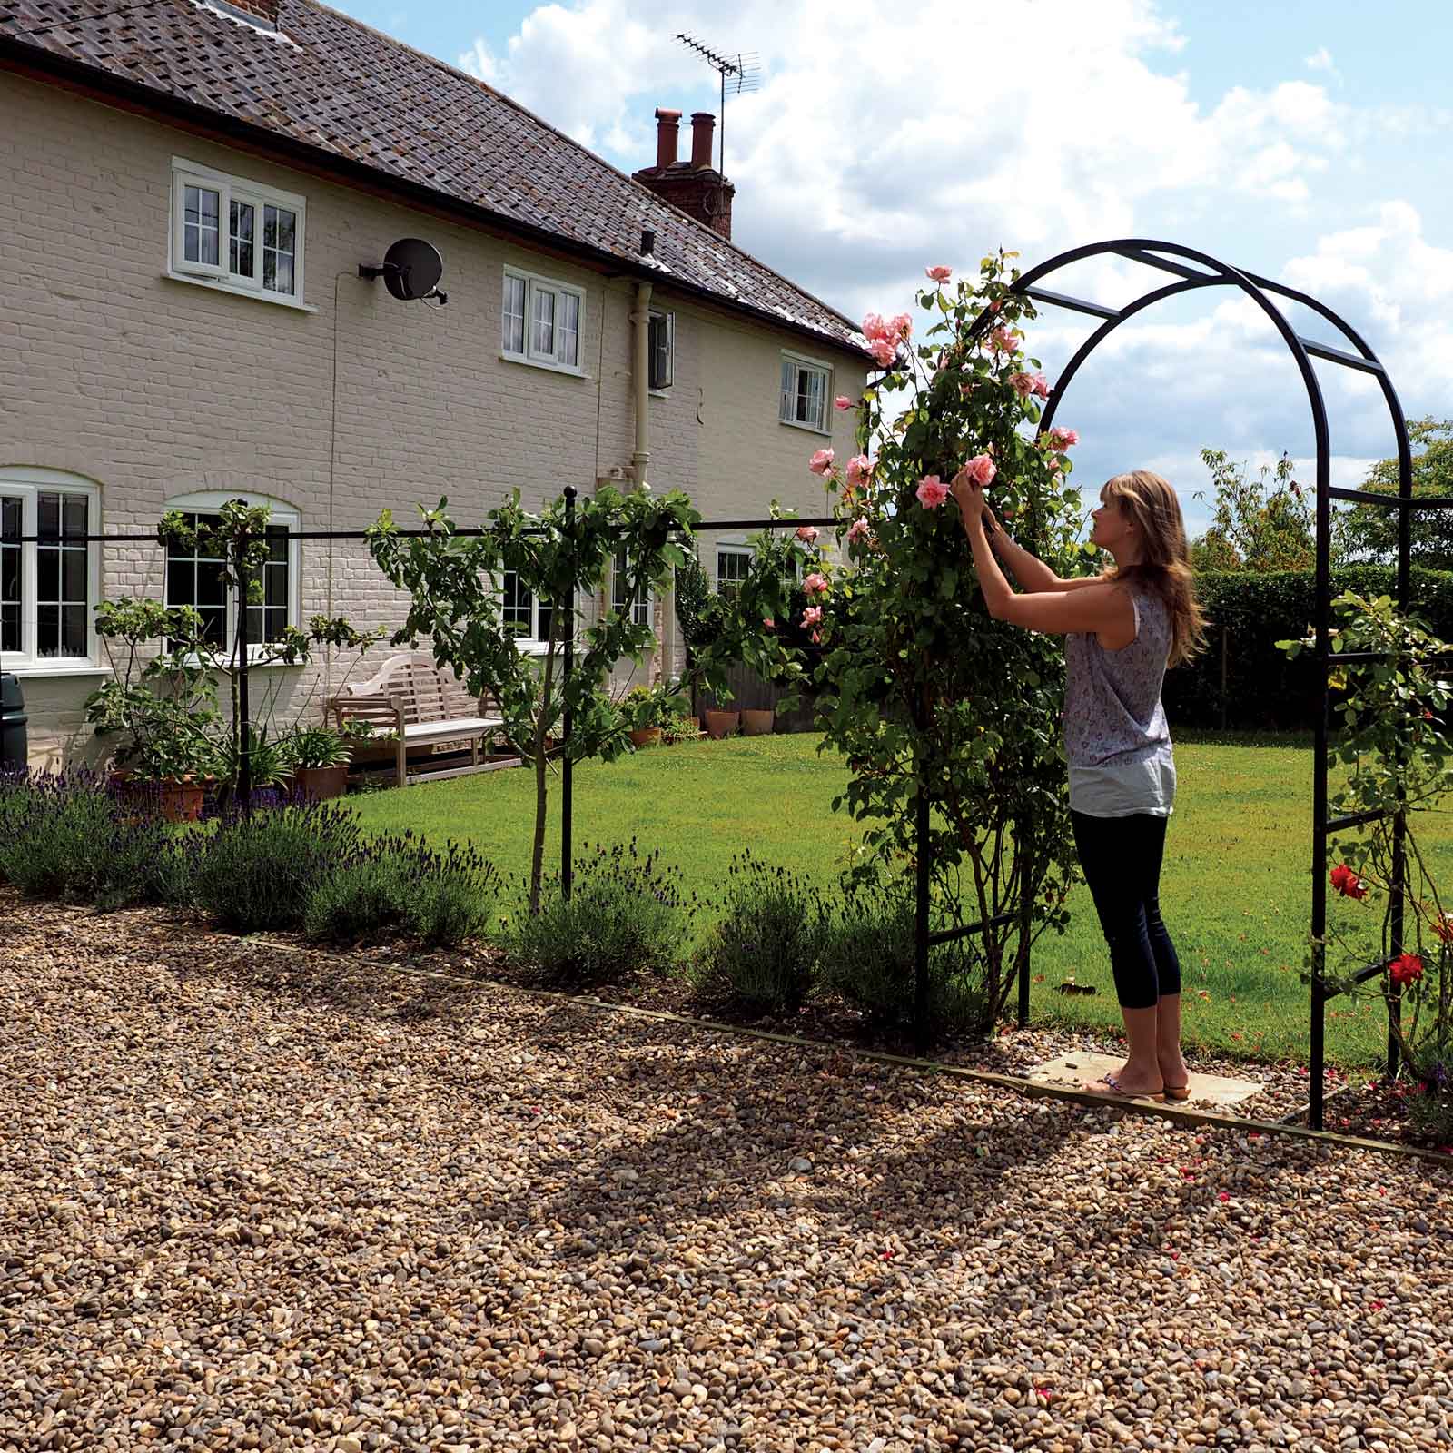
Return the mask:
<path id="1" fill-rule="evenodd" d="M 862 352 L 833 308 L 507 96 L 311 0 L 280 0 L 276 35 L 201 0 L 0 0 L 7 58 L 142 105 L 199 108 L 224 131 L 260 128 L 315 164 L 363 167 L 375 183 L 426 189 L 506 230 Z M 638 250 L 647 227 L 649 260 Z"/>

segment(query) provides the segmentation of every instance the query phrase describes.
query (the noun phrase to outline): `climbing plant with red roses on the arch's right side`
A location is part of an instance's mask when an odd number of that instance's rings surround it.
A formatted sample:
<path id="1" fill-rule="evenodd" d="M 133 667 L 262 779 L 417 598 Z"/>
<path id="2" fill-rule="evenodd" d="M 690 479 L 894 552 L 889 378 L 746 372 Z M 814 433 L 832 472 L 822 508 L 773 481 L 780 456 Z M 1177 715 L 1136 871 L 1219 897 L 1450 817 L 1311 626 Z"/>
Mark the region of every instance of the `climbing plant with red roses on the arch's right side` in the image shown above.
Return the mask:
<path id="1" fill-rule="evenodd" d="M 1329 795 L 1335 817 L 1377 814 L 1375 821 L 1341 833 L 1328 843 L 1327 936 L 1311 942 L 1306 975 L 1321 950 L 1329 989 L 1350 997 L 1376 995 L 1396 1004 L 1393 1026 L 1402 1074 L 1414 1087 L 1409 1113 L 1431 1138 L 1453 1141 L 1453 911 L 1443 898 L 1434 863 L 1420 843 L 1427 815 L 1440 811 L 1453 789 L 1453 741 L 1447 711 L 1453 689 L 1441 676 L 1438 655 L 1450 647 L 1389 596 L 1369 600 L 1353 591 L 1332 602 L 1335 655 L 1379 652 L 1377 660 L 1334 663 L 1332 687 L 1340 693 L 1332 756 L 1348 769 L 1345 786 Z M 1316 645 L 1315 635 L 1279 641 L 1287 655 Z M 1393 814 L 1407 811 L 1407 892 L 1402 942 L 1393 942 L 1395 841 Z M 1340 912 L 1343 899 L 1363 904 Z M 1367 921 L 1376 914 L 1375 923 Z M 1385 972 L 1359 984 L 1372 963 Z"/>

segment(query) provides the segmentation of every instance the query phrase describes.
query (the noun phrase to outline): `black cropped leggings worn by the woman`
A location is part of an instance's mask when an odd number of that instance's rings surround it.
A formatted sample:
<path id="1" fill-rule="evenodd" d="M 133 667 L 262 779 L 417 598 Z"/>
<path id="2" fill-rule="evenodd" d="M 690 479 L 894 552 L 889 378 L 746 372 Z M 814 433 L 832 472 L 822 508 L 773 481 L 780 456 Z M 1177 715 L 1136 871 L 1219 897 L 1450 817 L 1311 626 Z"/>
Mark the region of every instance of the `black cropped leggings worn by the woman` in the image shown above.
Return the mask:
<path id="1" fill-rule="evenodd" d="M 1180 959 L 1161 923 L 1164 817 L 1138 812 L 1094 818 L 1071 812 L 1080 866 L 1094 898 L 1120 1008 L 1152 1008 L 1162 994 L 1180 994 Z"/>

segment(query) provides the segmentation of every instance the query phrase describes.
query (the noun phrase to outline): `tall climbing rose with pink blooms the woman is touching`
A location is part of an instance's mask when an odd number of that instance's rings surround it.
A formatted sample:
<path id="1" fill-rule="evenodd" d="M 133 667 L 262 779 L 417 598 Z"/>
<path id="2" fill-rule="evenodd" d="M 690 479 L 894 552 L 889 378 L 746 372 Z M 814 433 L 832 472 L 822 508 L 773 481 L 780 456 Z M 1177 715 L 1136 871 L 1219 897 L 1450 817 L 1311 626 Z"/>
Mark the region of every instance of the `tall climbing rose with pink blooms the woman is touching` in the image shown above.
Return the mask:
<path id="1" fill-rule="evenodd" d="M 933 917 L 981 924 L 981 1030 L 1003 1013 L 1032 943 L 1046 927 L 1064 931 L 1075 865 L 1062 641 L 988 615 L 950 493 L 968 466 L 1023 545 L 1056 574 L 1082 572 L 1080 497 L 1067 484 L 1078 436 L 1039 429 L 1049 384 L 1026 352 L 1035 309 L 1013 291 L 1013 256 L 984 259 L 978 279 L 956 286 L 947 267 L 928 269 L 921 343 L 908 314 L 863 320 L 885 373 L 857 402 L 859 452 L 838 461 L 821 449 L 808 462 L 835 491 L 843 561 L 802 583 L 801 623 L 824 649 L 824 745 L 851 773 L 834 806 L 867 824 L 853 875 L 911 891 L 926 792 Z"/>

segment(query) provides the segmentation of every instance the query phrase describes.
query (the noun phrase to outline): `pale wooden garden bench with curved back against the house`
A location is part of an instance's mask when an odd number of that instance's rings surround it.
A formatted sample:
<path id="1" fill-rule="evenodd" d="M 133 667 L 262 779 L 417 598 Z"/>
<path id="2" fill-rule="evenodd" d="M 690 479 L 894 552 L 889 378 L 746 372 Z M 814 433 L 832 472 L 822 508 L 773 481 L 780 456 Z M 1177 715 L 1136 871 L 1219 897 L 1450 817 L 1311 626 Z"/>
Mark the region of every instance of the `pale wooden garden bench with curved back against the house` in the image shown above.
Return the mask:
<path id="1" fill-rule="evenodd" d="M 369 722 L 376 731 L 397 735 L 394 748 L 401 788 L 410 780 L 410 747 L 469 744 L 468 767 L 416 773 L 416 777 L 458 777 L 485 770 L 479 761 L 479 742 L 494 738 L 504 726 L 504 719 L 493 715 L 490 706 L 491 702 L 472 697 L 450 671 L 416 655 L 389 657 L 372 680 L 344 686 L 328 702 L 340 729 L 347 722 Z"/>

